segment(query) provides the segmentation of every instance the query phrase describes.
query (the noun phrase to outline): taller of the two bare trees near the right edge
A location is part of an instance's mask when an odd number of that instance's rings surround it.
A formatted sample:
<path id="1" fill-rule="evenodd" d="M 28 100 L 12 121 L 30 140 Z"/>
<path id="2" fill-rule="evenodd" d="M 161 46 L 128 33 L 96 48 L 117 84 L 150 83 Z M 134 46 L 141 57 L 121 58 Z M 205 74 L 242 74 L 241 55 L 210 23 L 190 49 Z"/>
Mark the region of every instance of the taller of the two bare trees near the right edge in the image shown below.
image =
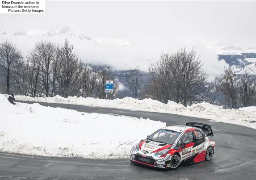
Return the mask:
<path id="1" fill-rule="evenodd" d="M 234 68 L 225 68 L 220 75 L 220 82 L 217 87 L 225 96 L 229 108 L 238 108 L 239 77 Z"/>

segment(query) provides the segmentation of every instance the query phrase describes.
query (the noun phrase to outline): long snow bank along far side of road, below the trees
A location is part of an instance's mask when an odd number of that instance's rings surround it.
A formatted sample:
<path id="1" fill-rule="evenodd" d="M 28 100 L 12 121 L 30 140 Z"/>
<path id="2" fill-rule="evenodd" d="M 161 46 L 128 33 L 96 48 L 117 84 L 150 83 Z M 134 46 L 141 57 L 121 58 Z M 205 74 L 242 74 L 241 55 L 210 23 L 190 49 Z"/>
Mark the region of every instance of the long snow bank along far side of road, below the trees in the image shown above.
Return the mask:
<path id="1" fill-rule="evenodd" d="M 8 95 L 5 95 L 8 96 Z M 214 121 L 222 121 L 242 126 L 248 126 L 256 129 L 256 107 L 247 107 L 240 109 L 223 109 L 222 106 L 211 105 L 206 102 L 198 103 L 185 107 L 173 101 L 169 101 L 167 105 L 157 100 L 144 99 L 136 100 L 131 97 L 115 100 L 103 100 L 95 98 L 71 97 L 63 98 L 55 97 L 29 97 L 16 96 L 16 100 L 27 100 L 35 102 L 50 102 L 73 105 L 85 105 L 105 108 L 141 110 L 159 113 L 172 113 L 190 117 L 199 117 L 211 119 Z"/>

